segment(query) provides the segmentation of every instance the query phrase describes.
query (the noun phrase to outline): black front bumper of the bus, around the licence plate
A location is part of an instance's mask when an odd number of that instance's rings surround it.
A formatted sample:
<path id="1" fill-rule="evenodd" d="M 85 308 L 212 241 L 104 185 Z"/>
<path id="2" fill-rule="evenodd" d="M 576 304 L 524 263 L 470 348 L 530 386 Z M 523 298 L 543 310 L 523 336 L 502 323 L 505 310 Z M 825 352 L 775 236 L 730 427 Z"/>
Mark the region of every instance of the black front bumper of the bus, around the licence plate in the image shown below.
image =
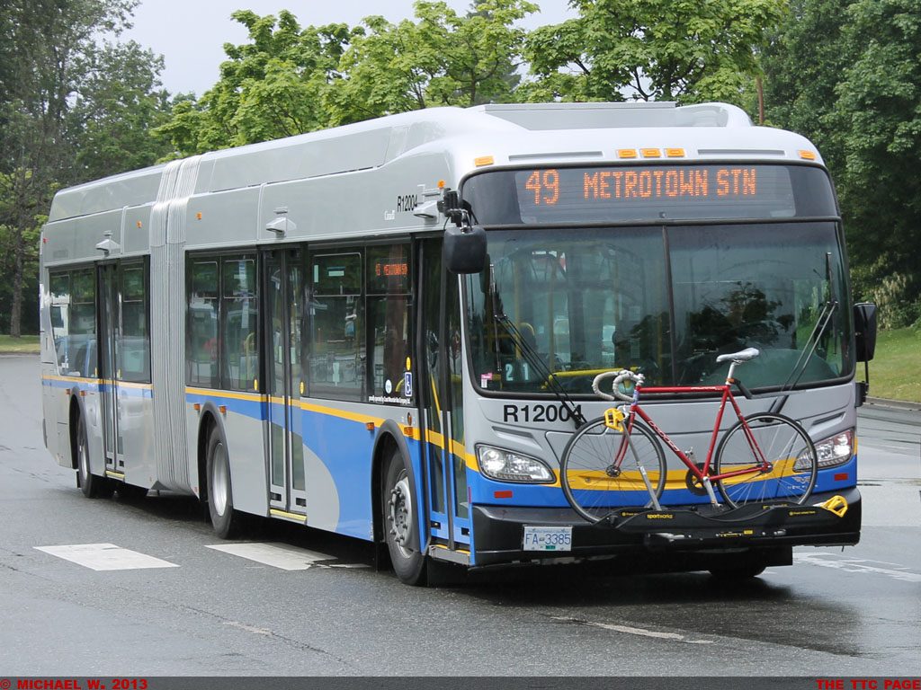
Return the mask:
<path id="1" fill-rule="evenodd" d="M 843 496 L 843 515 L 821 507 Z M 746 506 L 713 512 L 708 505 L 663 506 L 661 511 L 624 510 L 609 523 L 589 524 L 569 508 L 473 506 L 474 567 L 547 560 L 660 556 L 666 569 L 706 569 L 720 554 L 763 554 L 767 565 L 789 562 L 792 546 L 853 546 L 860 540 L 857 488 L 813 494 L 807 505 Z M 571 527 L 568 550 L 526 550 L 526 527 Z M 773 558 L 771 554 L 774 554 Z M 705 557 L 705 558 L 699 558 Z M 642 558 L 640 558 L 642 560 Z M 779 562 L 784 561 L 784 562 Z"/>

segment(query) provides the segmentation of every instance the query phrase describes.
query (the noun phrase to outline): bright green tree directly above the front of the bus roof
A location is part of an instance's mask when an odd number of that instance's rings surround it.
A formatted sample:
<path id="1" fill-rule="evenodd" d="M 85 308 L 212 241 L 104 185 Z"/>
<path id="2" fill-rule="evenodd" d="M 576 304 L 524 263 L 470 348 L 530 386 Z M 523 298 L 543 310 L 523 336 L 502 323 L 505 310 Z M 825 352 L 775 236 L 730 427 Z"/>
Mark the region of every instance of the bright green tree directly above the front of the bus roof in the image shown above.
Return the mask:
<path id="1" fill-rule="evenodd" d="M 572 0 L 579 17 L 536 29 L 528 98 L 739 102 L 785 0 Z"/>

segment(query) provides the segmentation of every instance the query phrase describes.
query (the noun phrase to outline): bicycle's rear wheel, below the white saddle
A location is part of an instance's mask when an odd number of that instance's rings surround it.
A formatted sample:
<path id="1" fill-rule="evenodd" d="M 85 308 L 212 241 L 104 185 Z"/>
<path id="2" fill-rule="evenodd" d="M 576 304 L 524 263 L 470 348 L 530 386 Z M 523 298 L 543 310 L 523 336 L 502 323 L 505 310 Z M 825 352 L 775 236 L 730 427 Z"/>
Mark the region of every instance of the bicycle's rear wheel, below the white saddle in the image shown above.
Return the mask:
<path id="1" fill-rule="evenodd" d="M 794 420 L 761 412 L 737 422 L 719 442 L 714 469 L 733 508 L 747 503 L 804 503 L 818 473 L 815 445 Z"/>

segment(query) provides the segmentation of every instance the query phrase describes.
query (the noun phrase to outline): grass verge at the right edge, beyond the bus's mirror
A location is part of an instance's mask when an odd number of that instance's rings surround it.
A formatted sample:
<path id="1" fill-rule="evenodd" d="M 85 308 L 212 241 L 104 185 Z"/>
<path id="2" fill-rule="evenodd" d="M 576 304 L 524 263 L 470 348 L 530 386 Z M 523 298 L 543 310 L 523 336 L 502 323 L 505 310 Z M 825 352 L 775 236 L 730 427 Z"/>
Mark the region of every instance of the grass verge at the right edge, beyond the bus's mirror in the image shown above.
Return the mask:
<path id="1" fill-rule="evenodd" d="M 857 377 L 864 378 L 863 363 L 857 364 Z M 880 330 L 869 362 L 869 395 L 921 402 L 921 330 Z"/>

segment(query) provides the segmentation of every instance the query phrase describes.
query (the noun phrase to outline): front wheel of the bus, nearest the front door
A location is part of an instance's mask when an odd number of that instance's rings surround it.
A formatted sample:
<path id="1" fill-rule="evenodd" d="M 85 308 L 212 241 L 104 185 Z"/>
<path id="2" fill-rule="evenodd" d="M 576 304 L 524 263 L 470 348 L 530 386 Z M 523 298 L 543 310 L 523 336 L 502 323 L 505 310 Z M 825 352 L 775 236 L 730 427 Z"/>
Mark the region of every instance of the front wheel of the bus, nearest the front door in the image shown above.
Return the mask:
<path id="1" fill-rule="evenodd" d="M 409 473 L 399 451 L 394 452 L 387 463 L 380 504 L 383 507 L 384 534 L 391 553 L 393 571 L 406 584 L 425 584 L 426 557 L 411 546 L 417 529 L 414 496 Z M 415 541 L 421 543 L 420 539 Z"/>

